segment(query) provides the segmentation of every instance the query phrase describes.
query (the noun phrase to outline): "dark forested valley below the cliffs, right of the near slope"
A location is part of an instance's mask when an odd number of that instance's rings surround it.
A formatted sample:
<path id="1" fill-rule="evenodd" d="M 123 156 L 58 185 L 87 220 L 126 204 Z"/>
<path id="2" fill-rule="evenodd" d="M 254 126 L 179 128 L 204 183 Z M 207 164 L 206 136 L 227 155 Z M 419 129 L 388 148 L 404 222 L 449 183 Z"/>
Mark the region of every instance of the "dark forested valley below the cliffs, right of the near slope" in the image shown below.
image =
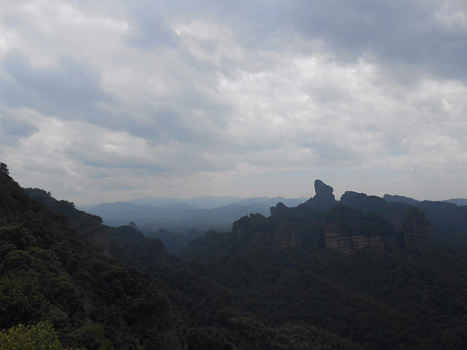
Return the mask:
<path id="1" fill-rule="evenodd" d="M 206 255 L 203 246 L 224 254 Z M 356 256 L 310 247 L 273 251 L 223 233 L 190 248 L 188 261 L 154 267 L 154 276 L 167 284 L 182 328 L 215 327 L 232 346 L 466 345 L 460 335 L 467 320 L 467 257 L 449 249 Z"/>

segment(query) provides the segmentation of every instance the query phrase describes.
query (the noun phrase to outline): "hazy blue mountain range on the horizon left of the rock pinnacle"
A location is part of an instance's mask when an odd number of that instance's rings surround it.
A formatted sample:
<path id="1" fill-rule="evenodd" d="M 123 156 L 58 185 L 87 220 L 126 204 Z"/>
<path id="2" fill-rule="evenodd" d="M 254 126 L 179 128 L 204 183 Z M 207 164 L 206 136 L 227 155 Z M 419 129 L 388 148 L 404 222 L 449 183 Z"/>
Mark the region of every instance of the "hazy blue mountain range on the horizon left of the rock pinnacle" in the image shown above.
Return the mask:
<path id="1" fill-rule="evenodd" d="M 137 223 L 140 231 L 155 232 L 161 228 L 172 232 L 188 233 L 196 230 L 230 231 L 232 223 L 243 215 L 269 215 L 269 209 L 279 202 L 298 206 L 307 198 L 285 197 L 195 197 L 140 198 L 128 202 L 102 203 L 82 206 L 80 209 L 101 216 L 111 226 Z"/>

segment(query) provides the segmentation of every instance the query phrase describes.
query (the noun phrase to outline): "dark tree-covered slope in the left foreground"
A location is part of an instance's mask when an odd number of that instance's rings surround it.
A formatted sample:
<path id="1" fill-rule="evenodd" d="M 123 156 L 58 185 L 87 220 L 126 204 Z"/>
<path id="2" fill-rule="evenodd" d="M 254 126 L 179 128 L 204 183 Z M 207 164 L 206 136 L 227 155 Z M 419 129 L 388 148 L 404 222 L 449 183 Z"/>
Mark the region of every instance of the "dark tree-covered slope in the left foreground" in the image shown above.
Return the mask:
<path id="1" fill-rule="evenodd" d="M 2 164 L 0 328 L 48 321 L 64 346 L 180 349 L 170 301 L 154 279 L 111 258 L 101 219 L 36 194 L 55 211 Z M 0 348 L 13 348 L 8 339 L 0 337 Z"/>

